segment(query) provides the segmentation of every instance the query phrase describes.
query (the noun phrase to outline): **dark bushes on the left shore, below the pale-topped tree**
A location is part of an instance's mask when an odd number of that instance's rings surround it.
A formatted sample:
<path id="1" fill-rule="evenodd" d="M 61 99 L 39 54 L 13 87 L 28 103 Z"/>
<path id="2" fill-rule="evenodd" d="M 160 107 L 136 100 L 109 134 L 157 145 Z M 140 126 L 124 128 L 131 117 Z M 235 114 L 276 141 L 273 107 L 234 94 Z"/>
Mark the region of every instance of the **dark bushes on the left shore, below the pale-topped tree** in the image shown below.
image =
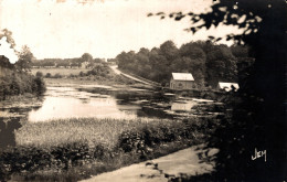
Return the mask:
<path id="1" fill-rule="evenodd" d="M 4 56 L 0 56 L 0 100 L 25 93 L 41 95 L 45 92 L 42 77 L 18 69 Z"/>

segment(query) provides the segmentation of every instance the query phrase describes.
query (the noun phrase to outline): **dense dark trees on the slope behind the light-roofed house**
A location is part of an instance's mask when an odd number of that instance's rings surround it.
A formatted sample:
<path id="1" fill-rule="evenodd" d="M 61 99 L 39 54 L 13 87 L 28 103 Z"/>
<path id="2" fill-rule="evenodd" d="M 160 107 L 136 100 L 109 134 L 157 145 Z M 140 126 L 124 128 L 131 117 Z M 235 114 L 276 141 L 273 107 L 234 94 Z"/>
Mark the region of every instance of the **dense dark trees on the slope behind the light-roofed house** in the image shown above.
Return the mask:
<path id="1" fill-rule="evenodd" d="M 180 49 L 172 41 L 160 47 L 140 49 L 138 53 L 121 52 L 116 56 L 118 67 L 145 78 L 168 85 L 171 73 L 192 73 L 199 87 L 216 86 L 219 82 L 237 82 L 242 72 L 253 62 L 247 47 L 196 41 Z"/>

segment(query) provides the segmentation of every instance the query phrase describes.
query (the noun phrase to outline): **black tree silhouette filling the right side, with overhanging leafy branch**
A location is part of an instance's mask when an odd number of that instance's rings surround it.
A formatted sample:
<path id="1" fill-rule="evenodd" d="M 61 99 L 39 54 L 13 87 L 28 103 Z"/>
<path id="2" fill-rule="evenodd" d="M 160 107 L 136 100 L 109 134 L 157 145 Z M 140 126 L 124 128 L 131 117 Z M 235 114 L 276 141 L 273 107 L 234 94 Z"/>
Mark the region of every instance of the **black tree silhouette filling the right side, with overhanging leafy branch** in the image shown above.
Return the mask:
<path id="1" fill-rule="evenodd" d="M 169 15 L 176 21 L 190 17 L 192 25 L 187 31 L 193 33 L 220 23 L 244 29 L 242 34 L 228 34 L 225 39 L 249 46 L 248 54 L 255 63 L 245 67 L 246 75 L 238 81 L 241 89 L 230 98 L 232 116 L 222 119 L 222 127 L 209 141 L 209 147 L 220 149 L 216 172 L 192 181 L 285 181 L 287 2 L 220 0 L 211 8 L 206 13 L 173 12 L 160 17 Z M 266 162 L 264 157 L 252 160 L 255 148 L 267 151 Z"/>

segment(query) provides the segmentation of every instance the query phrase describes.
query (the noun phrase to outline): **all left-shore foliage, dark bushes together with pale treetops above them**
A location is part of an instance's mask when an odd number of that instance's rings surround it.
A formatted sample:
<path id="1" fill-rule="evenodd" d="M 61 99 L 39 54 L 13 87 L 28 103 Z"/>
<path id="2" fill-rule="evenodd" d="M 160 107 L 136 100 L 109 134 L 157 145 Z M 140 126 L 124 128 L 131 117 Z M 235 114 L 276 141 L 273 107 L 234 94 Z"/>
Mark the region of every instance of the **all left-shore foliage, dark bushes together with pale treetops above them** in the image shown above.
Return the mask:
<path id="1" fill-rule="evenodd" d="M 0 39 L 2 36 L 7 36 L 12 49 L 15 46 L 10 31 L 4 29 L 0 32 Z M 38 76 L 26 73 L 26 71 L 30 71 L 33 58 L 34 56 L 26 45 L 19 53 L 19 61 L 15 64 L 11 64 L 6 56 L 0 56 L 0 100 L 25 93 L 39 96 L 45 92 L 45 84 L 41 73 L 38 73 Z"/>

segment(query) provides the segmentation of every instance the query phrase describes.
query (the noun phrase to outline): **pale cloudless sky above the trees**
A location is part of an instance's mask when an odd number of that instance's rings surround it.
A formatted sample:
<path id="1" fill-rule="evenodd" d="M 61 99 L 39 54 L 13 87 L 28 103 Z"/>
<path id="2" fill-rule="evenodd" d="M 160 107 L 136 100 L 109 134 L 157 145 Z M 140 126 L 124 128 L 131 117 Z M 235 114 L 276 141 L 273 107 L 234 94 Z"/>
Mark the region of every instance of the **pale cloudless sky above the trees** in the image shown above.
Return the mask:
<path id="1" fill-rule="evenodd" d="M 86 1 L 86 3 L 81 3 Z M 213 0 L 0 0 L 0 30 L 8 29 L 17 44 L 28 45 L 36 58 L 113 58 L 123 51 L 151 50 L 171 40 L 183 43 L 237 31 L 220 25 L 195 34 L 188 18 L 160 20 L 148 13 L 208 12 Z M 231 44 L 228 42 L 227 44 Z"/>

